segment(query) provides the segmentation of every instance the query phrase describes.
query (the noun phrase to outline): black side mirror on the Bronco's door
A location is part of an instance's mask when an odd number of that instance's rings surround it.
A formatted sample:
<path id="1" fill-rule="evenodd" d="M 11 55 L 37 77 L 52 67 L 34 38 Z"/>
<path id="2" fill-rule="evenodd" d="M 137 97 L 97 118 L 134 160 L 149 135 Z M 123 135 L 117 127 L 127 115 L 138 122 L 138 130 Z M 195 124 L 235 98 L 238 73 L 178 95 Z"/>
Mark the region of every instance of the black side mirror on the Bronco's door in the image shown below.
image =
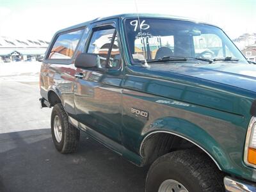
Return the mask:
<path id="1" fill-rule="evenodd" d="M 99 58 L 97 54 L 93 53 L 81 53 L 75 60 L 75 67 L 77 68 L 90 68 L 98 67 Z"/>

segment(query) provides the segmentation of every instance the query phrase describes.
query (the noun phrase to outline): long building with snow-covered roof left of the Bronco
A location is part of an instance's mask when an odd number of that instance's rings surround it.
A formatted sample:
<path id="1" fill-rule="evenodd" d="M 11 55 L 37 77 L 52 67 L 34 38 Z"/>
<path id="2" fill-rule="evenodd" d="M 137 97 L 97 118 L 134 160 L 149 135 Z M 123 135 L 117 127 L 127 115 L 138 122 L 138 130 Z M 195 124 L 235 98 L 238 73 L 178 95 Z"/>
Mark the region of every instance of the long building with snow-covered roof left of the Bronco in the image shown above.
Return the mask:
<path id="1" fill-rule="evenodd" d="M 0 36 L 0 62 L 42 61 L 49 42 Z"/>

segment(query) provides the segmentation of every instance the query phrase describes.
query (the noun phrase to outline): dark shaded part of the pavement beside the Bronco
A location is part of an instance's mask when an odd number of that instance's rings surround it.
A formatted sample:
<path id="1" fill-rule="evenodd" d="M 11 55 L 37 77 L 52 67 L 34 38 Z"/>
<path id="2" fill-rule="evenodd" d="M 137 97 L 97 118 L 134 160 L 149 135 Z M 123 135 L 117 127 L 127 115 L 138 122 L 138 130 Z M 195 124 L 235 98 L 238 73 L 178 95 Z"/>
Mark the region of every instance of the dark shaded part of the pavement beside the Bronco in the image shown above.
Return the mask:
<path id="1" fill-rule="evenodd" d="M 146 172 L 84 133 L 74 154 L 50 129 L 0 134 L 0 191 L 143 191 Z"/>

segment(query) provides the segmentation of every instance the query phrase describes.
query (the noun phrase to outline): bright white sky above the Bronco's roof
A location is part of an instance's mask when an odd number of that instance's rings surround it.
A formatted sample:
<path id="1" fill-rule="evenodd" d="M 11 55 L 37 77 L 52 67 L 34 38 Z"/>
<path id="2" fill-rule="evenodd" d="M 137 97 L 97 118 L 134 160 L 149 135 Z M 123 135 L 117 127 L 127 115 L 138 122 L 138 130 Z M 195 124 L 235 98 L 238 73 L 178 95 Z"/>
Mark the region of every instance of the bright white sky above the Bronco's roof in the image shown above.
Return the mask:
<path id="1" fill-rule="evenodd" d="M 137 0 L 141 13 L 163 13 L 211 22 L 231 37 L 256 33 L 256 0 Z M 51 40 L 62 28 L 119 13 L 136 12 L 135 0 L 0 0 L 0 36 Z"/>

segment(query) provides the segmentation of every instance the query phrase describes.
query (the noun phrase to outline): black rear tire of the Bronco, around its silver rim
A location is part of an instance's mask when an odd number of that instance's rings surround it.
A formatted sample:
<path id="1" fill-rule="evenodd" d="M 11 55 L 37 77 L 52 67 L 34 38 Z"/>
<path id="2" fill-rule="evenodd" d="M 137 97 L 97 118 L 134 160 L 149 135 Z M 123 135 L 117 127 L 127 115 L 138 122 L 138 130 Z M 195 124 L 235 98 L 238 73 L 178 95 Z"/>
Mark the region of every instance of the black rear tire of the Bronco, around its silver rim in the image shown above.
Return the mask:
<path id="1" fill-rule="evenodd" d="M 61 125 L 61 140 L 58 142 L 54 134 L 54 118 L 58 116 L 60 118 Z M 63 108 L 62 104 L 58 103 L 54 105 L 51 114 L 51 132 L 52 140 L 56 149 L 62 154 L 68 154 L 75 152 L 79 145 L 80 131 L 68 122 L 68 115 Z"/>

